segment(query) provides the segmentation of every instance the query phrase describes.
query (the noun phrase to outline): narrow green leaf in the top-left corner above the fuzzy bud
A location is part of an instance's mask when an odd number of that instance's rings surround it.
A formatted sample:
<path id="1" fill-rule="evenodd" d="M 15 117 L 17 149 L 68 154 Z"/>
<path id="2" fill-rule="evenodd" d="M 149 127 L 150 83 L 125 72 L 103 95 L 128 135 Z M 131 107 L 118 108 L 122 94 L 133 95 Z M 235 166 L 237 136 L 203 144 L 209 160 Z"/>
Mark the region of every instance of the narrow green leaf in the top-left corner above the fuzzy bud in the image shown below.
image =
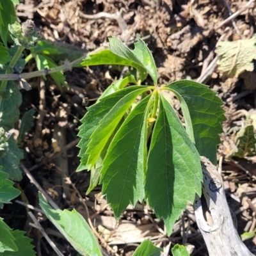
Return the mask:
<path id="1" fill-rule="evenodd" d="M 16 13 L 12 0 L 1 0 L 0 3 L 0 36 L 7 47 L 8 25 L 12 24 L 16 18 Z"/>

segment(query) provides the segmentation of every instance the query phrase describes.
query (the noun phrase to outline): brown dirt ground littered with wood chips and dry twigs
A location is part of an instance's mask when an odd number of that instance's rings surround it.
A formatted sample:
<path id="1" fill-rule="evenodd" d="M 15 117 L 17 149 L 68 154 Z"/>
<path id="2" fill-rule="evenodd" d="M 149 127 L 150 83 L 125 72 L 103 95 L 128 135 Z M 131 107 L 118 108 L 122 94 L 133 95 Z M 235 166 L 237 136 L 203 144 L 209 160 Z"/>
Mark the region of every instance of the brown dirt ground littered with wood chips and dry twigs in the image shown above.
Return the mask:
<path id="1" fill-rule="evenodd" d="M 237 147 L 237 133 L 255 114 L 256 72 L 228 78 L 216 65 L 212 69 L 207 67 L 214 61 L 216 44 L 221 40 L 252 38 L 256 24 L 253 4 L 233 20 L 221 24 L 246 3 L 248 1 L 241 0 L 20 0 L 17 6 L 21 22 L 33 19 L 43 38 L 58 45 L 72 45 L 78 54 L 106 45 L 109 36 L 117 36 L 127 45 L 132 45 L 136 36 L 140 36 L 156 60 L 160 84 L 193 79 L 218 93 L 227 117 L 218 147 L 218 168 L 239 235 L 256 228 L 256 157 L 255 154 L 237 157 L 232 153 Z M 25 72 L 35 70 L 35 62 L 29 61 L 27 68 Z M 51 77 L 47 77 L 47 81 L 37 77 L 28 81 L 33 90 L 22 91 L 20 115 L 31 107 L 37 109 L 35 125 L 22 142 L 26 153 L 22 163 L 35 180 L 61 209 L 75 208 L 84 218 L 90 217 L 102 237 L 102 247 L 110 254 L 132 255 L 147 237 L 164 248 L 165 255 L 176 243 L 189 244 L 191 255 L 208 255 L 191 205 L 168 237 L 163 221 L 157 220 L 147 205 L 129 207 L 116 223 L 111 208 L 100 195 L 100 186 L 85 195 L 90 173 L 76 173 L 79 150 L 74 145 L 77 144 L 79 120 L 86 113 L 85 107 L 95 103 L 108 85 L 118 79 L 120 72 L 114 67 L 97 66 L 73 68 L 65 72 L 65 76 L 69 90 L 60 92 Z M 179 104 L 175 104 L 175 108 L 179 111 Z M 61 152 L 65 161 L 60 154 L 56 156 L 58 150 L 54 148 L 54 141 L 64 148 Z M 52 156 L 51 161 L 45 160 Z M 61 173 L 65 173 L 74 186 L 63 183 Z M 23 191 L 17 199 L 38 207 L 38 189 L 26 175 L 17 186 Z M 79 195 L 86 199 L 86 207 Z M 10 227 L 26 230 L 34 240 L 37 255 L 55 255 L 40 232 L 29 226 L 31 220 L 27 211 L 26 207 L 13 202 L 4 207 L 0 216 Z M 34 214 L 44 218 L 40 212 L 34 211 Z M 64 255 L 76 255 L 50 221 L 42 220 L 41 225 Z M 256 255 L 256 238 L 244 243 Z"/>

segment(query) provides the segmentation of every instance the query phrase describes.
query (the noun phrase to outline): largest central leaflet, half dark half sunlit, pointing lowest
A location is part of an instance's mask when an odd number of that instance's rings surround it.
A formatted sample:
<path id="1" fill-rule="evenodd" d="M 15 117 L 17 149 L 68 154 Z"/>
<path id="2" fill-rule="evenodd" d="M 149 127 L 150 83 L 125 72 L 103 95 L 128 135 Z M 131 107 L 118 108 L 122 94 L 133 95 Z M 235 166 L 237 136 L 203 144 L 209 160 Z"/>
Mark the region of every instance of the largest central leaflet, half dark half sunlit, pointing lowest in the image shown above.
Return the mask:
<path id="1" fill-rule="evenodd" d="M 160 94 L 159 115 L 148 152 L 145 195 L 168 234 L 187 202 L 201 194 L 200 156 L 172 106 Z"/>

